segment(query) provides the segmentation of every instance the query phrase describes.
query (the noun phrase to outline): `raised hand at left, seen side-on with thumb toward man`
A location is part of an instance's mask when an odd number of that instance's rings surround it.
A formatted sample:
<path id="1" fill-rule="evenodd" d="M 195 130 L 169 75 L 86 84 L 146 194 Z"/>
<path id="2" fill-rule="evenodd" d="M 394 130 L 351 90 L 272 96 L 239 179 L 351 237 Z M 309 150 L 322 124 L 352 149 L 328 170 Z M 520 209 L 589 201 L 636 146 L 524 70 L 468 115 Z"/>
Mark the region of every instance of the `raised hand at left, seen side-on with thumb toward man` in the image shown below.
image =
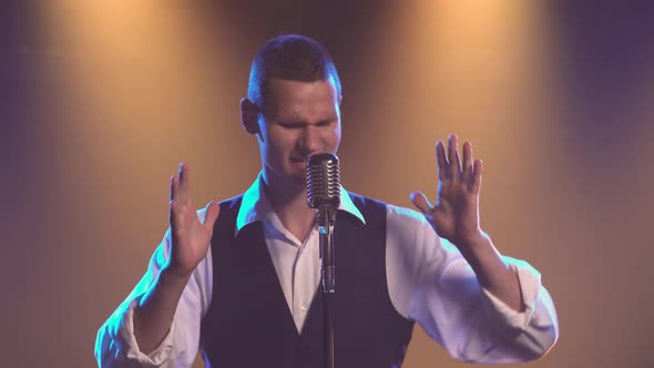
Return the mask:
<path id="1" fill-rule="evenodd" d="M 180 164 L 180 172 L 171 177 L 171 256 L 165 269 L 168 274 L 187 277 L 206 255 L 219 206 L 211 202 L 203 222 L 197 218 L 191 202 L 188 166 Z"/>

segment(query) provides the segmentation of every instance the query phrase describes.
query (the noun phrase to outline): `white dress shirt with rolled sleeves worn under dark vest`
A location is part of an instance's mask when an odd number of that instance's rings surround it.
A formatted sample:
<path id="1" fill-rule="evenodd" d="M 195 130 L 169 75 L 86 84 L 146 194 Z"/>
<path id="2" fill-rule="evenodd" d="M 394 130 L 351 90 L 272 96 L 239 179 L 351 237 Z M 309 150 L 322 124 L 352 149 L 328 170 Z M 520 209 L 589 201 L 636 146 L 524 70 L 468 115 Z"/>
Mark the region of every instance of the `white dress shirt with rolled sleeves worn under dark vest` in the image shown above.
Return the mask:
<path id="1" fill-rule="evenodd" d="M 339 209 L 366 222 L 341 187 Z M 204 218 L 204 209 L 198 216 Z M 279 284 L 298 331 L 320 278 L 318 231 L 303 241 L 284 228 L 259 177 L 245 192 L 236 233 L 260 221 Z M 440 238 L 425 217 L 388 205 L 386 267 L 390 300 L 397 311 L 417 321 L 454 358 L 481 364 L 518 362 L 544 355 L 559 335 L 554 305 L 538 270 L 523 260 L 503 257 L 517 273 L 524 311 L 507 306 L 480 288 L 459 251 Z M 194 270 L 180 299 L 173 324 L 161 345 L 139 349 L 133 310 L 165 265 L 170 231 L 156 248 L 147 273 L 98 331 L 95 356 L 101 367 L 191 367 L 197 355 L 200 326 L 212 301 L 212 252 Z M 219 296 L 216 296 L 219 297 Z"/>

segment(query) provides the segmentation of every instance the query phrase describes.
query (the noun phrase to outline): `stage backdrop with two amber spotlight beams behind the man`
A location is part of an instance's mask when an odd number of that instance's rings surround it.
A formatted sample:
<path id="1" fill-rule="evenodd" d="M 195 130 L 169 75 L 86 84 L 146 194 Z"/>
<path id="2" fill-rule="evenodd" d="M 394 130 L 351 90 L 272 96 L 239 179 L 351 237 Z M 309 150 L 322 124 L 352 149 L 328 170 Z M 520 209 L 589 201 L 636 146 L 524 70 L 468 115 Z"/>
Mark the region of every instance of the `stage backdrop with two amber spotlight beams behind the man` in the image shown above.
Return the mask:
<path id="1" fill-rule="evenodd" d="M 297 32 L 340 70 L 349 190 L 433 197 L 436 140 L 473 142 L 482 227 L 559 311 L 559 344 L 530 367 L 650 367 L 652 12 L 586 3 L 3 2 L 0 365 L 94 366 L 166 229 L 177 163 L 197 206 L 255 178 L 249 62 Z M 405 367 L 464 366 L 417 328 Z"/>

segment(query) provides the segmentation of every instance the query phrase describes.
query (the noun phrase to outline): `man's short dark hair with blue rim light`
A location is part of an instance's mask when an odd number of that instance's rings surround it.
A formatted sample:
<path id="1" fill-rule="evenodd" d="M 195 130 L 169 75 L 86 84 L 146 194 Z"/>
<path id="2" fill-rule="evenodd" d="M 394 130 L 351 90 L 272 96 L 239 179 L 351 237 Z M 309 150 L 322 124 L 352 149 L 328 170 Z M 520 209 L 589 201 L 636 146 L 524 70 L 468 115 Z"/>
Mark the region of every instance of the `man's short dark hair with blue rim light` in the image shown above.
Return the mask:
<path id="1" fill-rule="evenodd" d="M 336 92 L 340 94 L 338 72 L 325 47 L 306 35 L 279 35 L 266 42 L 254 58 L 247 98 L 263 109 L 270 79 L 315 82 L 330 76 L 334 78 Z"/>

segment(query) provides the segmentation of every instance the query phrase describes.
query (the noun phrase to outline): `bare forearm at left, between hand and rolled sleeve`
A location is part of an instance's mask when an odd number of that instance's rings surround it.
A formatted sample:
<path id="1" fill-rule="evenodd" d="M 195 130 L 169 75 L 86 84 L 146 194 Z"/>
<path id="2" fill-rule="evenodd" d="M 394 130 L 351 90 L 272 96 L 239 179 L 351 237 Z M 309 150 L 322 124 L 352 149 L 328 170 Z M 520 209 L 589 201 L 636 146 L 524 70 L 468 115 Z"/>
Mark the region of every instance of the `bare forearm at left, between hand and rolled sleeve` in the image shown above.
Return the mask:
<path id="1" fill-rule="evenodd" d="M 162 270 L 134 308 L 134 337 L 142 352 L 150 354 L 168 333 L 188 277 Z"/>

